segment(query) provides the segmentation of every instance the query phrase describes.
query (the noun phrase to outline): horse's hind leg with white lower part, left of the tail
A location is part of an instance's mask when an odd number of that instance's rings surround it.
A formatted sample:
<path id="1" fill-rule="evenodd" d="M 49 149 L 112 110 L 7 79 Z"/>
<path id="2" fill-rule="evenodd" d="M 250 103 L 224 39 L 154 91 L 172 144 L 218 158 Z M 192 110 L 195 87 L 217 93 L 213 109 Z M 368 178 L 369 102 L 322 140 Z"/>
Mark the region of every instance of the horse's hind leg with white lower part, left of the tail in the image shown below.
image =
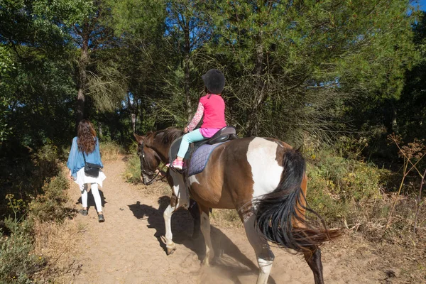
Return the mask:
<path id="1" fill-rule="evenodd" d="M 259 266 L 259 274 L 256 284 L 266 284 L 268 282 L 269 274 L 271 273 L 272 264 L 275 256 L 269 247 L 268 241 L 261 238 L 254 226 L 255 215 L 252 214 L 244 221 L 244 228 L 246 229 L 247 239 L 254 251 Z"/>

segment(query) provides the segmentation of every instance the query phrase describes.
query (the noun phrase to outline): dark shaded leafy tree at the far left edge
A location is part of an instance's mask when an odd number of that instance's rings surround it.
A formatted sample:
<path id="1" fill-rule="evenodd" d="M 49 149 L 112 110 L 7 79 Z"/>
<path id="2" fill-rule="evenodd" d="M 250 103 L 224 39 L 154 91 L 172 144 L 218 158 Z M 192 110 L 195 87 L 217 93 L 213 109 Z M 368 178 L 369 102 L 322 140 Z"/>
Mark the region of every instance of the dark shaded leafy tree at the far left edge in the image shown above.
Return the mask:
<path id="1" fill-rule="evenodd" d="M 1 60 L 1 120 L 12 147 L 69 136 L 72 45 L 51 9 L 45 1 L 4 1 L 0 7 L 1 50 L 7 56 Z"/>

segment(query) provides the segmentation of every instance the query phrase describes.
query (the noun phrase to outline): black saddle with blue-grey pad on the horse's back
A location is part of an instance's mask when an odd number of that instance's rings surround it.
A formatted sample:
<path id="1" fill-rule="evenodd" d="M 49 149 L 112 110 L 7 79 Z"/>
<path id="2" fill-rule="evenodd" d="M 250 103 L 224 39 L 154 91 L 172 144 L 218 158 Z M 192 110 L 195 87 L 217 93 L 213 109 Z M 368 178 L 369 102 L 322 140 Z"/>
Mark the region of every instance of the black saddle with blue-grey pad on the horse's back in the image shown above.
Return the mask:
<path id="1" fill-rule="evenodd" d="M 202 153 L 200 153 L 200 157 L 197 157 L 197 163 L 198 164 L 202 164 L 203 162 L 207 163 L 207 160 L 209 158 L 209 153 L 211 153 L 214 150 L 214 148 L 216 148 L 217 146 L 219 146 L 220 144 L 226 141 L 234 140 L 236 138 L 238 138 L 238 136 L 236 136 L 235 128 L 232 126 L 225 126 L 223 129 L 220 129 L 219 131 L 217 131 L 217 133 L 214 134 L 214 136 L 212 136 L 211 138 L 204 139 L 202 141 L 198 141 L 195 143 L 191 143 L 190 148 L 188 149 L 184 157 L 184 160 L 186 161 L 187 165 L 190 165 L 189 168 L 194 168 L 193 167 L 194 163 L 191 162 L 192 155 L 193 153 L 197 151 L 197 149 L 202 148 L 200 149 L 200 151 L 202 150 Z M 182 137 L 173 141 L 172 146 L 170 146 L 170 150 L 168 153 L 169 163 L 172 163 L 173 160 L 175 160 L 176 156 L 178 155 L 181 141 L 182 141 Z M 190 163 L 188 163 L 188 161 L 190 161 Z M 202 170 L 204 169 L 205 163 L 204 165 L 196 166 L 197 169 L 195 170 L 190 169 L 189 175 L 195 175 L 195 173 L 201 173 Z"/>

